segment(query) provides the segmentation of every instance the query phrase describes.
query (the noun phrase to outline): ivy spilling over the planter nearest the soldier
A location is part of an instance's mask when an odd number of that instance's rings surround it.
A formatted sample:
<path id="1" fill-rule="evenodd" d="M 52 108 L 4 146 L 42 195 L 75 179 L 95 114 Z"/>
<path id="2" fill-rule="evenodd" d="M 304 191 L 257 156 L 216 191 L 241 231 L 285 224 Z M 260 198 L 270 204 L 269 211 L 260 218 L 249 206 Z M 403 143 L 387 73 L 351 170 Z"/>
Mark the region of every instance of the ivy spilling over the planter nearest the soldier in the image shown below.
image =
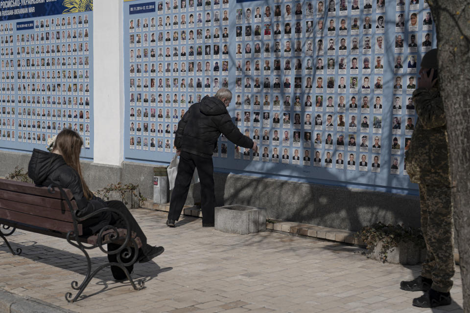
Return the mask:
<path id="1" fill-rule="evenodd" d="M 370 226 L 364 226 L 356 235 L 365 244 L 369 252 L 374 251 L 375 247 L 381 242 L 382 247 L 379 251 L 380 260 L 387 262 L 387 252 L 393 251 L 400 242 L 414 243 L 420 249 L 426 247 L 423 233 L 420 228 L 403 227 L 400 224 L 383 224 L 378 222 Z"/>

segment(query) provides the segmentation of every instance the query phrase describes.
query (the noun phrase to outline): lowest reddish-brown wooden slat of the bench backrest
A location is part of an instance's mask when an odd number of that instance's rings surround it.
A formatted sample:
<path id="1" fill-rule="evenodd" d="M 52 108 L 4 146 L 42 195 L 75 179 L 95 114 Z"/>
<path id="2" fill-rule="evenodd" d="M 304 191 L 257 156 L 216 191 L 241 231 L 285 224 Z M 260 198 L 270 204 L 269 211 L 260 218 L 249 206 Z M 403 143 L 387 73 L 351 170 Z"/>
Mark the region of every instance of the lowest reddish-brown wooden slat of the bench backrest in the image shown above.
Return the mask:
<path id="1" fill-rule="evenodd" d="M 40 216 L 33 216 L 21 212 L 11 211 L 0 208 L 0 216 L 2 220 L 9 220 L 12 222 L 18 222 L 22 224 L 27 224 L 31 226 L 37 226 L 42 228 L 47 228 L 50 230 L 56 230 L 63 233 L 67 233 L 70 230 L 73 230 L 73 223 L 63 222 L 58 220 L 51 220 L 49 218 L 44 218 Z M 78 224 L 79 236 L 83 234 L 82 225 Z"/>

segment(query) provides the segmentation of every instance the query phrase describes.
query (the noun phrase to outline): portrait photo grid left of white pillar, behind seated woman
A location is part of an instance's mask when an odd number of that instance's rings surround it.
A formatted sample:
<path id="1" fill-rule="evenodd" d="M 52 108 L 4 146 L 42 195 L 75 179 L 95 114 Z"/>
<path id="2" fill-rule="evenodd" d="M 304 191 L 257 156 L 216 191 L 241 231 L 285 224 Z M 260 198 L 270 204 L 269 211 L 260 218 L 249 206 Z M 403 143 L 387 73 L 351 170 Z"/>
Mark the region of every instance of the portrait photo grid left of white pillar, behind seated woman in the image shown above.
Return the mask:
<path id="1" fill-rule="evenodd" d="M 89 16 L 36 18 L 26 29 L 0 23 L 2 140 L 32 149 L 69 128 L 90 148 Z"/>

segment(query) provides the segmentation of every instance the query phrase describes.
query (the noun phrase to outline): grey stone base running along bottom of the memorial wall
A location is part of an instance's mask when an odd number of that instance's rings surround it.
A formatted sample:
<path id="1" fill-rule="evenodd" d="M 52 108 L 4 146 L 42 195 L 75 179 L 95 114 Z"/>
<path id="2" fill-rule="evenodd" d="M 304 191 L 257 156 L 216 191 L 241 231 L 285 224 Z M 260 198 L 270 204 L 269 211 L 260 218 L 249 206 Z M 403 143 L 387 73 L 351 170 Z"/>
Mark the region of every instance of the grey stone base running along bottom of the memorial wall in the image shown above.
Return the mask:
<path id="1" fill-rule="evenodd" d="M 30 154 L 0 152 L 0 158 L 0 176 L 6 176 L 16 165 L 27 170 Z M 128 161 L 121 166 L 82 162 L 90 189 L 97 190 L 118 181 L 131 182 L 139 184 L 141 194 L 147 199 L 153 199 L 153 167 Z M 267 216 L 282 221 L 353 231 L 379 221 L 420 226 L 417 196 L 217 172 L 214 181 L 216 206 L 264 207 Z M 186 203 L 200 202 L 199 195 L 199 184 L 191 185 Z"/>

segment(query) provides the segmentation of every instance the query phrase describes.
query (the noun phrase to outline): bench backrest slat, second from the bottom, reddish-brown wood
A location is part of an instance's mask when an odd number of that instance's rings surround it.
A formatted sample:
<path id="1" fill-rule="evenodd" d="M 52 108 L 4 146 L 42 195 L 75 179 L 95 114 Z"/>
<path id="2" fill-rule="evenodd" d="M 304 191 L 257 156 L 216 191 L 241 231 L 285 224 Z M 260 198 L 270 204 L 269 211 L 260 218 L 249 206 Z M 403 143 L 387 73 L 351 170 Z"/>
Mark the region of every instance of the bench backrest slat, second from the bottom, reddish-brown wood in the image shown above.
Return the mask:
<path id="1" fill-rule="evenodd" d="M 52 220 L 64 221 L 64 222 L 73 222 L 72 215 L 70 210 L 59 211 L 51 209 L 45 206 L 37 206 L 27 203 L 9 201 L 5 199 L 0 199 L 0 208 L 15 212 L 21 212 L 29 214 L 30 216 L 39 216 L 45 217 Z M 0 212 L 0 217 L 3 214 Z M 21 222 L 21 221 L 18 221 Z"/>

